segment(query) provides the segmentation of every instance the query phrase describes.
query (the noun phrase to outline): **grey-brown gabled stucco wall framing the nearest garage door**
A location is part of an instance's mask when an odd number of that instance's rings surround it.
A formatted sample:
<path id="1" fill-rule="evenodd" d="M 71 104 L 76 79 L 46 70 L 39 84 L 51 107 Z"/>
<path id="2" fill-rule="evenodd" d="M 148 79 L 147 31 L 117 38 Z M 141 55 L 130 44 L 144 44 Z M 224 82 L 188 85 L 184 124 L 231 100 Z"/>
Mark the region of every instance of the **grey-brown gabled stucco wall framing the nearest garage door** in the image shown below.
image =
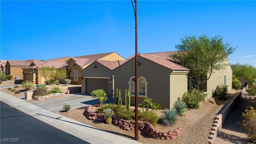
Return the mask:
<path id="1" fill-rule="evenodd" d="M 94 66 L 97 66 L 95 69 Z M 111 82 L 108 82 L 108 96 L 113 96 L 113 73 L 110 69 L 106 68 L 102 64 L 98 62 L 93 62 L 89 66 L 87 66 L 84 70 L 81 71 L 83 77 L 110 77 Z M 81 93 L 86 93 L 86 78 L 82 80 Z"/>

